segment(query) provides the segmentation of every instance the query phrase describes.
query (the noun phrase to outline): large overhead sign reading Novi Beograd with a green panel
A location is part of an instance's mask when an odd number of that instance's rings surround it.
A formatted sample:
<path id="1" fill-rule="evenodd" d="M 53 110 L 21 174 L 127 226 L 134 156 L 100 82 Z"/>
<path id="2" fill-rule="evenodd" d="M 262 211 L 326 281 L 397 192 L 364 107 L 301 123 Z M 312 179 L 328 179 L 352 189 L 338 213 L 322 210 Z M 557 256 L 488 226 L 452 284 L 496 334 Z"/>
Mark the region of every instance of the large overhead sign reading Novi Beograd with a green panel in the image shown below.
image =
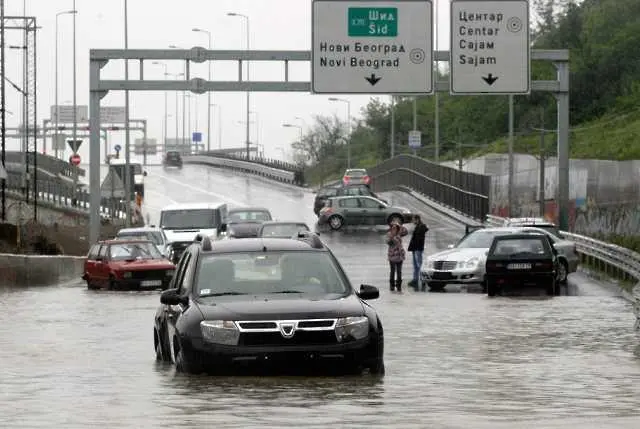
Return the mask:
<path id="1" fill-rule="evenodd" d="M 314 0 L 311 91 L 433 93 L 431 0 Z"/>

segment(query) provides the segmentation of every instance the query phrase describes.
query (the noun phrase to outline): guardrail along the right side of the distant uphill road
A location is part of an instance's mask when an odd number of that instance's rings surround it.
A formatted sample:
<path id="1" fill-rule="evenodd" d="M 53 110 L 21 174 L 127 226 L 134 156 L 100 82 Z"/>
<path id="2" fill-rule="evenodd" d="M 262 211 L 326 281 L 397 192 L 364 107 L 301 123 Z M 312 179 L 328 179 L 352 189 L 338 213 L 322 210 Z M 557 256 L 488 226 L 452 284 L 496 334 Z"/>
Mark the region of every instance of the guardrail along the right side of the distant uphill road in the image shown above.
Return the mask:
<path id="1" fill-rule="evenodd" d="M 186 155 L 183 158 L 185 164 L 200 164 L 211 167 L 226 168 L 243 173 L 255 174 L 291 185 L 303 186 L 304 178 L 295 171 L 281 170 L 271 166 L 251 161 L 242 161 L 230 157 L 218 157 L 215 155 Z"/>

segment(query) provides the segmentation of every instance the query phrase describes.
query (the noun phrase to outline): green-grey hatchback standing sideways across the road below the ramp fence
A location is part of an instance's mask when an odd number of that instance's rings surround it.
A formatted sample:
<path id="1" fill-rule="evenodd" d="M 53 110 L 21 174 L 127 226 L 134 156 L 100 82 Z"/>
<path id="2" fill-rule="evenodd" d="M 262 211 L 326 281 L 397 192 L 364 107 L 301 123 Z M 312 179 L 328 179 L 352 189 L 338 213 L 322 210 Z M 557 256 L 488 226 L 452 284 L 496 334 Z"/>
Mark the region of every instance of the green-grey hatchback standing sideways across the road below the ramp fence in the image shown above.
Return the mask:
<path id="1" fill-rule="evenodd" d="M 343 226 L 389 225 L 411 222 L 413 214 L 406 208 L 393 207 L 373 197 L 334 197 L 320 210 L 319 225 L 335 231 Z"/>

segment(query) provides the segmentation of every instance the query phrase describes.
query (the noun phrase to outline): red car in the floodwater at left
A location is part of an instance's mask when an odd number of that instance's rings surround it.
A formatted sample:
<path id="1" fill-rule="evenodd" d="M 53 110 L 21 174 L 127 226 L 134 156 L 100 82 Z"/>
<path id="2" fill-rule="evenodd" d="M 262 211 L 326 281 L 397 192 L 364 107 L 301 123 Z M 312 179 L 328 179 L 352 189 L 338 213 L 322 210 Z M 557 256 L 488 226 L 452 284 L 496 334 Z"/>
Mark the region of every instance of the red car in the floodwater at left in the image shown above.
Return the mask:
<path id="1" fill-rule="evenodd" d="M 148 240 L 108 240 L 91 246 L 83 280 L 89 289 L 167 289 L 175 265 Z"/>

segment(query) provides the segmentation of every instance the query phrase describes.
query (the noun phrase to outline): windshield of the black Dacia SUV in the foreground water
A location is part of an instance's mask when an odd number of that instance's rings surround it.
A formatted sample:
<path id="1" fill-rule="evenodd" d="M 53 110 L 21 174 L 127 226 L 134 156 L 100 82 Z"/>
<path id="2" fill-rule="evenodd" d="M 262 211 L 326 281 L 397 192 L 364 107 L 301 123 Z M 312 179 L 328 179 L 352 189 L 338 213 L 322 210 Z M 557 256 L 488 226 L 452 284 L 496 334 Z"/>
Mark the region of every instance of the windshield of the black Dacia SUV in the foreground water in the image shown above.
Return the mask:
<path id="1" fill-rule="evenodd" d="M 344 296 L 350 287 L 326 252 L 238 252 L 204 256 L 194 293 L 220 295 L 303 294 Z"/>

